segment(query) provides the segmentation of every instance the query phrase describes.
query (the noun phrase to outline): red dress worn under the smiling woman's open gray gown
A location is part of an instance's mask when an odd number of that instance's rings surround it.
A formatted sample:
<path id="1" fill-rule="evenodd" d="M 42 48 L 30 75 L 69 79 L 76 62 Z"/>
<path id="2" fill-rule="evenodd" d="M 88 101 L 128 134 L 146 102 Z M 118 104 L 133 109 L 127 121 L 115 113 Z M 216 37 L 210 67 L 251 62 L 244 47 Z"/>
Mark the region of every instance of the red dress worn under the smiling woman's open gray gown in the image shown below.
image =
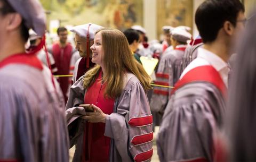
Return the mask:
<path id="1" fill-rule="evenodd" d="M 106 83 L 102 84 L 102 71 L 87 89 L 85 104 L 98 106 L 103 113 L 113 113 L 115 99 L 104 98 Z M 86 122 L 83 137 L 82 161 L 109 161 L 110 138 L 104 136 L 105 123 Z"/>

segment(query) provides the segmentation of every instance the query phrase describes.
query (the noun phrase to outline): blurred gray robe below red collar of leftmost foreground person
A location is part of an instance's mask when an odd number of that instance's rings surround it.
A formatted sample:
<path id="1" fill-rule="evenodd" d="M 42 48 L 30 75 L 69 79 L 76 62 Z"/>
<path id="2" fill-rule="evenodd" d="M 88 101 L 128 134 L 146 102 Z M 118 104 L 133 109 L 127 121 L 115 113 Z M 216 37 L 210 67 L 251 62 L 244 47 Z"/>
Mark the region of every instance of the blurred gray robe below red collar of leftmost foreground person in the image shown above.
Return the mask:
<path id="1" fill-rule="evenodd" d="M 0 161 L 68 161 L 65 103 L 47 67 L 0 68 Z"/>

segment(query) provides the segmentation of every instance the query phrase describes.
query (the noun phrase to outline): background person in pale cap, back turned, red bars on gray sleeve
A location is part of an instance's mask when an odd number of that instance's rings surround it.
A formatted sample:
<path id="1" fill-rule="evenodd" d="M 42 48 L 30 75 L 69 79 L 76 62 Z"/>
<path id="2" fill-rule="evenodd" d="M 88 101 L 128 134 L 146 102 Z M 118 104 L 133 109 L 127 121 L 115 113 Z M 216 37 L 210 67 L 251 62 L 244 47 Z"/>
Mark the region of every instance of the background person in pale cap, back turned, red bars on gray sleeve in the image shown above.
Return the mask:
<path id="1" fill-rule="evenodd" d="M 187 40 L 191 38 L 185 28 L 177 27 L 171 32 L 171 42 L 173 50 L 165 53 L 159 63 L 155 84 L 161 86 L 171 86 L 179 80 L 181 74 L 181 60 L 187 47 Z M 154 87 L 153 95 L 150 100 L 150 108 L 154 112 L 164 113 L 167 101 L 170 99 L 169 88 Z"/>

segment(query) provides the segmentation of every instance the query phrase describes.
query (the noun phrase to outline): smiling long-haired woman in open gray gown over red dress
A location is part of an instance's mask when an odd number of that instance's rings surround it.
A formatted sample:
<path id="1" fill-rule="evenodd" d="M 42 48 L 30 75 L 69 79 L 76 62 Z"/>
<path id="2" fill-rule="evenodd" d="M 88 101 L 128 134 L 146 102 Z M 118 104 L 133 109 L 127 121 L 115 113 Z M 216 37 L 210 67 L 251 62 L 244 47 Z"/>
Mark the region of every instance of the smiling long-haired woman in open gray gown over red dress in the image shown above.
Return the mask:
<path id="1" fill-rule="evenodd" d="M 100 37 L 102 37 L 102 40 Z M 100 46 L 101 44 L 102 46 Z M 118 48 L 114 49 L 113 45 Z M 150 161 L 153 155 L 153 118 L 145 92 L 146 85 L 148 86 L 146 90 L 150 89 L 150 77 L 142 65 L 133 58 L 126 37 L 119 30 L 98 30 L 95 33 L 94 44 L 91 49 L 93 52 L 92 62 L 98 65 L 87 71 L 71 86 L 66 105 L 70 147 L 76 144 L 73 161 L 82 161 L 84 158 L 87 158 L 88 161 L 93 159 L 97 159 L 93 161 L 99 161 L 98 152 L 91 151 L 88 153 L 90 154 L 89 157 L 86 157 L 86 152 L 95 147 L 98 147 L 95 148 L 97 151 L 102 150 L 101 156 L 106 156 L 105 161 Z M 102 62 L 105 62 L 103 64 L 99 57 L 102 57 L 102 53 L 109 49 L 114 49 L 110 54 L 115 57 L 103 55 Z M 104 52 L 101 53 L 101 50 Z M 110 58 L 111 61 L 112 59 L 114 61 L 118 60 L 118 62 L 121 61 L 121 64 L 116 64 L 116 67 L 111 64 L 113 69 L 109 71 L 110 73 L 107 73 L 105 68 L 108 69 L 109 66 L 106 66 L 108 64 L 106 60 Z M 101 69 L 101 67 L 103 68 Z M 125 71 L 122 71 L 122 69 Z M 104 81 L 102 76 L 108 77 L 109 75 L 111 78 L 115 78 L 116 74 L 118 74 L 119 77 L 119 72 L 113 73 L 113 71 L 119 70 L 122 72 L 120 76 L 122 81 L 116 81 L 116 79 L 113 81 L 115 84 L 123 83 L 120 95 L 108 98 L 103 97 L 103 92 L 108 90 L 107 83 L 110 80 L 106 79 Z M 95 72 L 97 74 L 94 74 Z M 98 75 L 98 78 L 95 78 L 92 86 L 86 88 L 86 80 L 93 75 Z M 97 83 L 98 80 L 101 84 Z M 99 94 L 97 93 L 99 96 L 90 95 L 90 93 L 96 91 L 99 92 Z M 90 98 L 90 100 L 87 98 Z M 103 98 L 105 99 L 102 100 Z M 92 101 L 94 99 L 95 102 Z M 112 102 L 113 107 L 105 107 L 107 104 L 111 105 Z M 80 104 L 91 104 L 94 112 L 86 112 L 83 107 L 79 106 Z M 107 114 L 104 109 L 108 109 L 110 113 Z M 100 118 L 100 120 L 96 121 L 96 118 Z M 105 126 L 100 127 L 99 124 L 104 124 Z M 96 142 L 93 143 L 93 139 L 90 139 L 91 136 L 95 137 L 94 134 L 90 133 L 90 127 L 92 126 L 97 127 L 94 132 L 98 134 L 97 139 L 110 138 L 110 143 L 100 143 L 98 146 Z M 103 130 L 102 134 L 99 133 L 100 130 Z M 92 142 L 91 145 L 86 144 L 86 137 L 89 137 L 89 143 Z"/>

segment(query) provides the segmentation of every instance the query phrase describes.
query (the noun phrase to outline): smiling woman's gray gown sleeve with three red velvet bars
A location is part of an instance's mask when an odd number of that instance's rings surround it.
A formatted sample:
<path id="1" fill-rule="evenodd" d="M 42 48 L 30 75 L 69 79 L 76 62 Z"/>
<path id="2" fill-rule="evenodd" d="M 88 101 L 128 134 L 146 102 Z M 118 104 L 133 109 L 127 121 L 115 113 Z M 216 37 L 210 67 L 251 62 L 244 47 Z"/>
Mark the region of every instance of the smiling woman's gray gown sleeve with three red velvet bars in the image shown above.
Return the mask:
<path id="1" fill-rule="evenodd" d="M 105 126 L 105 135 L 114 139 L 122 161 L 151 159 L 152 122 L 146 93 L 138 79 L 133 77 L 119 98 L 116 113 L 107 117 Z"/>

